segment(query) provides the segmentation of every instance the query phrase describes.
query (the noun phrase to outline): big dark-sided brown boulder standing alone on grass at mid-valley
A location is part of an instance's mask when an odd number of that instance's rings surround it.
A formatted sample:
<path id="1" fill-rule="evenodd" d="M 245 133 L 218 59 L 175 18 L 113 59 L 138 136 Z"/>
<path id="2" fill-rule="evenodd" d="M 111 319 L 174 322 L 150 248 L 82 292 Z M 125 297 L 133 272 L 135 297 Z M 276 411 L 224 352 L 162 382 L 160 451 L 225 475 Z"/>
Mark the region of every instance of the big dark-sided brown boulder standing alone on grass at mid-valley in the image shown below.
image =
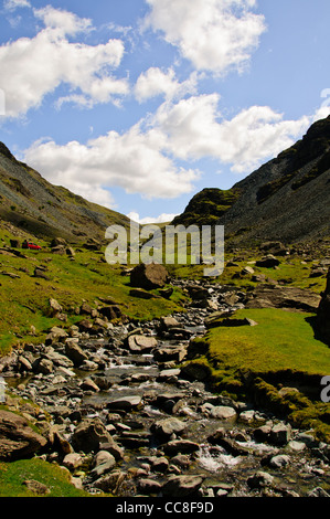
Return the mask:
<path id="1" fill-rule="evenodd" d="M 169 282 L 169 273 L 163 265 L 158 263 L 137 265 L 130 273 L 130 285 L 132 287 L 151 290 L 163 288 Z"/>

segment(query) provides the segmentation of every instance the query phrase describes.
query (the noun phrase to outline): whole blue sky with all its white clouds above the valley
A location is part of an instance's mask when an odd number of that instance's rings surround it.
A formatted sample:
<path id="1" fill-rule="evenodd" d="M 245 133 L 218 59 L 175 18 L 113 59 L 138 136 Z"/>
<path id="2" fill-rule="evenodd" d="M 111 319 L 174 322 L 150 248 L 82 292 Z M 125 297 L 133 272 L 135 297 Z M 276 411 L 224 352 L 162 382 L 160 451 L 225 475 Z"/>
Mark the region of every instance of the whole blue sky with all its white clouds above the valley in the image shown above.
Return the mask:
<path id="1" fill-rule="evenodd" d="M 329 0 L 2 0 L 0 140 L 141 222 L 330 113 Z"/>

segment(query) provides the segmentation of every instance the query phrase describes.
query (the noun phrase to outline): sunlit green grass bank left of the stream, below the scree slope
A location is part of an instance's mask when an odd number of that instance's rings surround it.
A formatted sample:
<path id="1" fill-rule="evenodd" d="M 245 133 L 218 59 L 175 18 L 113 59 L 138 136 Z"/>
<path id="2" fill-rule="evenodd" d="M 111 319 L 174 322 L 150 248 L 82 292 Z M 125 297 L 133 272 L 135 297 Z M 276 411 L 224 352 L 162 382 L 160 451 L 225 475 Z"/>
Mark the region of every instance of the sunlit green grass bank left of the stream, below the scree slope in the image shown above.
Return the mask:
<path id="1" fill-rule="evenodd" d="M 0 356 L 24 341 L 41 341 L 52 326 L 71 326 L 83 317 L 75 308 L 86 300 L 92 307 L 100 305 L 99 297 L 118 303 L 124 315 L 149 320 L 182 308 L 184 299 L 175 288 L 171 298 L 140 299 L 129 295 L 129 277 L 121 275 L 120 265 L 109 265 L 100 254 L 77 250 L 74 261 L 67 256 L 42 252 L 24 252 L 25 258 L 0 254 Z M 45 266 L 49 279 L 33 277 L 36 266 Z M 12 278 L 4 273 L 19 277 Z M 158 290 L 152 290 L 158 295 Z M 67 322 L 49 316 L 49 300 L 56 299 L 67 314 Z M 31 326 L 36 337 L 30 335 Z"/>

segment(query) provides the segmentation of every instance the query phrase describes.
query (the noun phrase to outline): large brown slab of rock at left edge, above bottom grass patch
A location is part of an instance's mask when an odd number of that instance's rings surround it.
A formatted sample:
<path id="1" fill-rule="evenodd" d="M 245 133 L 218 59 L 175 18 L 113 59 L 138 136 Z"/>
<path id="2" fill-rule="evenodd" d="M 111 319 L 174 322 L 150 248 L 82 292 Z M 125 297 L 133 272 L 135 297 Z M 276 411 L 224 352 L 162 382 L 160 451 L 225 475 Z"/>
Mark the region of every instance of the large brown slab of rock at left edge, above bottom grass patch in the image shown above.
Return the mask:
<path id="1" fill-rule="evenodd" d="M 46 443 L 46 438 L 32 431 L 24 417 L 0 410 L 0 460 L 31 457 Z"/>

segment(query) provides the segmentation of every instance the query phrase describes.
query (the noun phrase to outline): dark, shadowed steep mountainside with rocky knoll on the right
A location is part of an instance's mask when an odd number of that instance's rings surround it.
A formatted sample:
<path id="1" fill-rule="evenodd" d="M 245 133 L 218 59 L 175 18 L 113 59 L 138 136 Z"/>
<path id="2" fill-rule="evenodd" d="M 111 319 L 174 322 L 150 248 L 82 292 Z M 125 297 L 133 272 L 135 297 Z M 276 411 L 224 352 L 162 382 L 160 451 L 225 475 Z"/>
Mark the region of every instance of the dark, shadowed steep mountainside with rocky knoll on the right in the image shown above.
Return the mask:
<path id="1" fill-rule="evenodd" d="M 215 221 L 237 244 L 330 237 L 330 116 L 232 189 L 198 193 L 173 223 Z"/>

